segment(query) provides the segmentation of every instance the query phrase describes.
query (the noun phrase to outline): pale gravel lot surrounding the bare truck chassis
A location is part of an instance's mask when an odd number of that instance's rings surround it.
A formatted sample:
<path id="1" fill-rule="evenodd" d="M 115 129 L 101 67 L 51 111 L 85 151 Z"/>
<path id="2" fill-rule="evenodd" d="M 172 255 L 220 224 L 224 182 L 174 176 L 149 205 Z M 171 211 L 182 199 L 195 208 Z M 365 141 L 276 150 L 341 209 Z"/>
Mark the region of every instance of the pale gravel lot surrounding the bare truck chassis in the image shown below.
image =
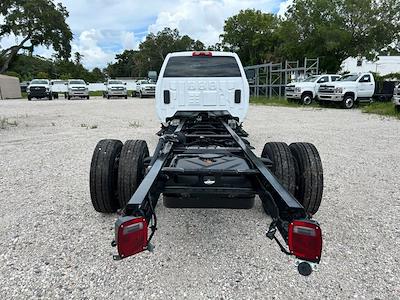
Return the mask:
<path id="1" fill-rule="evenodd" d="M 0 296 L 135 299 L 394 299 L 400 294 L 400 122 L 359 110 L 251 106 L 245 129 L 320 150 L 318 272 L 300 276 L 251 210 L 157 207 L 154 253 L 112 260 L 115 215 L 96 213 L 88 177 L 102 138 L 146 139 L 153 99 L 0 101 Z M 95 128 L 97 127 L 97 128 Z M 396 296 L 397 295 L 397 296 Z"/>

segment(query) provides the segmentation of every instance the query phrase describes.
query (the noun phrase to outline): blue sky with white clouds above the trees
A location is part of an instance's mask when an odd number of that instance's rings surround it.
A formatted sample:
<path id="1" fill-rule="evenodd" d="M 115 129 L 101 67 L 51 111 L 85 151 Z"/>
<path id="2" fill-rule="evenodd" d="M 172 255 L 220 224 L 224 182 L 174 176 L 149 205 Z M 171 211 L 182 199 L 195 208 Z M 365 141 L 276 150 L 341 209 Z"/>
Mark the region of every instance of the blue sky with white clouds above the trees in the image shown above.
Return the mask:
<path id="1" fill-rule="evenodd" d="M 164 27 L 206 45 L 219 40 L 224 20 L 241 9 L 256 8 L 283 14 L 292 0 L 59 0 L 69 11 L 67 20 L 74 34 L 72 52 L 84 55 L 83 64 L 103 68 L 124 49 L 137 49 L 149 32 Z M 0 20 L 1 22 L 1 20 Z M 2 47 L 15 37 L 0 40 Z M 50 57 L 51 49 L 38 47 L 36 54 Z"/>

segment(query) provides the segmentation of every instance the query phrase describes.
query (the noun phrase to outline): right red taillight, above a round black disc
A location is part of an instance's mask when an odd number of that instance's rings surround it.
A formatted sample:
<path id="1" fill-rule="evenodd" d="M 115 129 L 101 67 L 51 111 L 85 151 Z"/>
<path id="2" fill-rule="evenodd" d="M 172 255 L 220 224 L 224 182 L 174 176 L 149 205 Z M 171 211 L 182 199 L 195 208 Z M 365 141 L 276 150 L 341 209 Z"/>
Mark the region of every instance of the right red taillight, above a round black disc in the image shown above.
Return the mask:
<path id="1" fill-rule="evenodd" d="M 322 252 L 322 233 L 317 223 L 295 220 L 289 224 L 288 244 L 297 258 L 319 262 Z"/>

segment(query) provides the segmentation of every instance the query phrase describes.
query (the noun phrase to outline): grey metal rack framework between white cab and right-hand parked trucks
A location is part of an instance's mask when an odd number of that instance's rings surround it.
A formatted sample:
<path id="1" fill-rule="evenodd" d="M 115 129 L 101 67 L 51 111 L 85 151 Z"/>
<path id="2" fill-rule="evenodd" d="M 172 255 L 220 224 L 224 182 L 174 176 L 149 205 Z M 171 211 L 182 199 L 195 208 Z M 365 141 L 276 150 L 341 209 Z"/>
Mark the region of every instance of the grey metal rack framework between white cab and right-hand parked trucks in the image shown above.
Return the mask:
<path id="1" fill-rule="evenodd" d="M 293 81 L 315 75 L 319 72 L 319 58 L 305 58 L 285 63 L 268 63 L 244 68 L 250 86 L 250 95 L 284 97 L 285 86 Z"/>

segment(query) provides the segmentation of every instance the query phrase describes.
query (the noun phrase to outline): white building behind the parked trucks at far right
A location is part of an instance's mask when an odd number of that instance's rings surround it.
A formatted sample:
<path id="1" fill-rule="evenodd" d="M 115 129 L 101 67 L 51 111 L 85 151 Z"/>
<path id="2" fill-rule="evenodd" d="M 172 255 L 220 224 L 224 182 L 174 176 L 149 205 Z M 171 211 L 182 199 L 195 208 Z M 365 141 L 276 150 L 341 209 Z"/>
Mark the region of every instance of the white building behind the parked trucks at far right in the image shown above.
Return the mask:
<path id="1" fill-rule="evenodd" d="M 349 57 L 342 62 L 341 68 L 342 73 L 375 72 L 381 76 L 400 73 L 400 56 L 378 56 L 376 61 Z"/>

